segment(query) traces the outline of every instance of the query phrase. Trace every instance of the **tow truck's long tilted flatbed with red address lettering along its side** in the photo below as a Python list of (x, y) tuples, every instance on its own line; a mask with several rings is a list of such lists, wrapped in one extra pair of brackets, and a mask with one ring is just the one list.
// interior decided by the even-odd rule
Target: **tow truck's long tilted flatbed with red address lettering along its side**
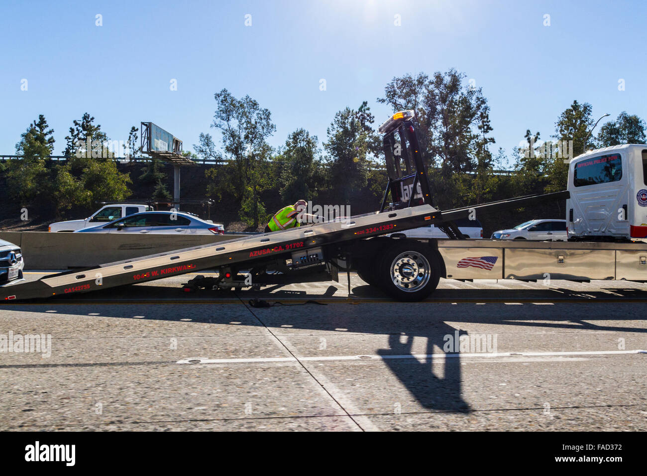
[[(441, 212), (431, 205), (406, 209), (373, 212), (345, 219), (336, 219), (311, 226), (297, 227), (254, 236), (242, 236), (212, 245), (179, 249), (168, 253), (142, 256), (67, 271), (33, 282), (17, 282), (0, 288), (0, 300), (40, 299), (55, 295), (113, 288), (124, 284), (137, 284), (170, 276), (195, 273), (203, 269), (254, 262), (259, 258), (289, 255), (294, 251), (349, 242), (395, 233), (412, 228), (443, 223), (467, 217), (477, 212), (514, 209), (566, 198), (567, 192), (533, 195), (493, 203), (463, 207)], [(91, 240), (91, 234), (88, 234)]]

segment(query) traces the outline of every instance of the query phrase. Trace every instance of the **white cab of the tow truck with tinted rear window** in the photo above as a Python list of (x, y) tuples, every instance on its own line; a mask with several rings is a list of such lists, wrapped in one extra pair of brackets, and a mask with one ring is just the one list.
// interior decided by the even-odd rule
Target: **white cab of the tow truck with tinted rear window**
[(571, 159), (569, 238), (647, 238), (647, 145), (606, 147)]

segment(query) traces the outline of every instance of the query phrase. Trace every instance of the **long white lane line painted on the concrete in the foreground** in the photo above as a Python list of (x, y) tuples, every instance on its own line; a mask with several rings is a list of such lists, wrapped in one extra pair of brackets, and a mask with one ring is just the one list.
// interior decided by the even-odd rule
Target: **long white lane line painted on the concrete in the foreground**
[(271, 363), (271, 362), (320, 362), (340, 360), (380, 360), (380, 359), (444, 359), (452, 357), (543, 357), (543, 356), (612, 356), (620, 354), (647, 354), (647, 350), (578, 350), (573, 352), (503, 352), (498, 354), (482, 353), (458, 353), (458, 354), (406, 354), (402, 356), (322, 356), (322, 357), (258, 357), (252, 359), (182, 359), (176, 363)]

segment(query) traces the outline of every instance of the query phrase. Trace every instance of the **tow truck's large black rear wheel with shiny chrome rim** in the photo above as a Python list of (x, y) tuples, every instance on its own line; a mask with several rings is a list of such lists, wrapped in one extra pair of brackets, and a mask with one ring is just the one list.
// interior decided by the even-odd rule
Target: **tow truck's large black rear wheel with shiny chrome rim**
[(435, 251), (413, 240), (395, 243), (380, 250), (376, 266), (380, 288), (400, 301), (417, 301), (433, 293), (441, 277), (441, 264)]

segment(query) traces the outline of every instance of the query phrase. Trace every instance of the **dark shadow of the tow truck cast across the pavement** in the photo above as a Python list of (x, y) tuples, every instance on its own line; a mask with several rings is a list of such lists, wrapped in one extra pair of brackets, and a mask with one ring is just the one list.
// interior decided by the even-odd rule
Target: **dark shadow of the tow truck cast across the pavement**
[[(175, 291), (175, 289), (173, 289)], [(610, 304), (617, 308), (623, 302), (631, 300), (647, 300), (646, 293), (642, 289), (609, 289), (611, 294), (601, 291), (571, 291), (569, 289), (470, 289), (470, 301), (476, 304), (478, 300), (486, 302), (514, 302), (522, 300), (523, 302), (532, 302), (537, 300), (554, 300), (555, 306), (546, 309), (542, 316), (542, 327), (576, 329), (576, 330), (611, 330), (614, 332), (647, 332), (646, 328), (620, 327), (620, 326), (600, 326), (589, 321), (608, 320), (608, 315), (588, 312), (586, 316), (577, 319), (571, 313), (564, 313), (563, 310), (556, 308), (560, 300), (567, 302), (575, 300), (584, 306), (589, 306), (595, 302), (614, 300), (618, 304)], [(450, 324), (444, 322), (444, 319), (450, 318), (452, 321), (461, 323), (505, 323), (514, 326), (537, 326), (533, 322), (535, 318), (516, 316), (514, 320), (506, 319), (505, 313), (495, 313), (490, 315), (482, 312), (469, 312), (464, 308), (448, 308), (446, 302), (465, 302), (466, 289), (438, 289), (428, 300), (424, 302), (388, 302), (386, 297), (370, 288), (369, 286), (356, 286), (353, 289), (353, 295), (349, 298), (345, 294), (336, 297), (339, 289), (335, 286), (329, 286), (323, 293), (308, 293), (307, 291), (281, 289), (280, 286), (265, 289), (265, 291), (242, 291), (234, 293), (231, 291), (203, 291), (198, 293), (203, 300), (191, 304), (192, 296), (186, 296), (178, 290), (177, 298), (188, 299), (188, 302), (163, 302), (155, 304), (151, 308), (150, 317), (146, 319), (158, 321), (180, 321), (185, 316), (182, 313), (182, 306), (207, 306), (203, 313), (204, 318), (195, 318), (192, 315), (193, 322), (208, 322), (217, 324), (228, 324), (231, 320), (231, 314), (226, 308), (235, 302), (244, 305), (255, 319), (250, 319), (247, 325), (266, 326), (269, 328), (278, 328), (287, 324), (291, 329), (313, 330), (320, 332), (338, 332), (339, 328), (344, 328), (347, 333), (358, 334), (380, 334), (388, 335), (388, 348), (378, 349), (376, 353), (382, 357), (386, 356), (413, 356), (413, 339), (422, 337), (426, 339), (426, 354), (432, 356), (434, 346), (443, 348), (444, 336), (455, 335), (455, 332), (466, 335), (462, 331)], [(8, 304), (0, 306), (0, 310), (12, 310), (22, 312), (44, 313), (49, 306), (60, 306), (60, 312), (66, 314), (78, 314), (88, 318), (87, 309), (80, 310), (79, 305), (87, 301), (87, 306), (96, 304), (102, 299), (109, 300), (118, 297), (119, 299), (141, 299), (147, 300), (170, 299), (170, 289), (161, 286), (127, 286), (124, 288), (106, 289), (86, 295), (78, 295), (73, 303), (65, 299), (43, 300), (41, 303), (28, 304)], [(258, 297), (267, 299), (270, 302), (287, 300), (317, 300), (328, 299), (328, 306), (277, 306), (274, 308), (250, 308), (247, 304), (249, 299)], [(353, 299), (371, 298), (377, 299), (374, 302), (353, 302)], [(172, 299), (172, 297), (171, 297)], [(223, 300), (223, 304), (213, 302), (214, 300)], [(226, 302), (229, 305), (226, 305)], [(340, 307), (338, 304), (345, 304), (348, 307)], [(173, 306), (164, 312), (164, 305)], [(469, 306), (470, 304), (463, 304)], [(629, 305), (629, 304), (628, 304)], [(124, 319), (133, 319), (133, 306), (150, 306), (150, 302), (131, 302), (130, 306), (110, 306), (101, 313), (102, 317), (117, 317)], [(219, 308), (216, 306), (220, 306)], [(367, 306), (372, 306), (366, 310)], [(85, 308), (85, 306), (83, 306)], [(480, 306), (479, 306), (480, 308)], [(192, 307), (193, 310), (195, 308)], [(499, 308), (498, 308), (499, 309)], [(103, 308), (102, 308), (103, 310)], [(586, 319), (586, 320), (585, 320)], [(615, 312), (614, 321), (631, 320), (635, 321), (635, 315), (630, 313)], [(548, 322), (549, 321), (549, 322)], [(444, 357), (444, 356), (443, 356)], [(437, 377), (432, 369), (433, 357), (426, 359), (416, 358), (384, 358), (382, 360), (394, 376), (396, 376), (402, 385), (408, 389), (411, 395), (426, 409), (437, 411), (465, 412), (469, 411), (468, 404), (463, 400), (461, 391), (461, 358), (442, 358), (439, 364), (444, 365), (443, 378)]]

